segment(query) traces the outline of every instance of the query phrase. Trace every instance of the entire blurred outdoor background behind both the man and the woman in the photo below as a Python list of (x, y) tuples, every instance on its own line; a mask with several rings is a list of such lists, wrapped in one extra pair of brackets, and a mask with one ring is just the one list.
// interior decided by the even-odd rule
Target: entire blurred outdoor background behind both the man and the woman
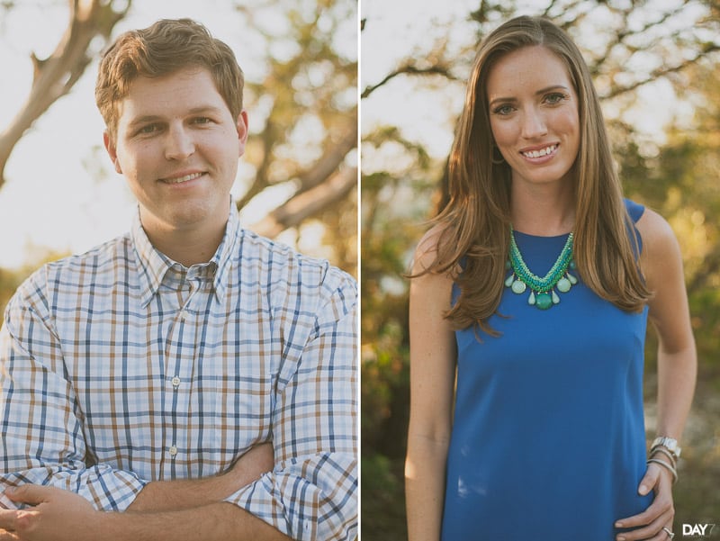
[[(94, 106), (100, 51), (161, 17), (204, 23), (246, 72), (250, 140), (233, 188), (243, 223), (361, 276), (363, 538), (406, 538), (402, 273), (435, 212), (477, 42), (511, 16), (545, 14), (592, 69), (626, 194), (661, 212), (680, 239), (699, 377), (676, 530), (720, 523), (720, 3), (362, 0), (359, 9), (361, 30), (357, 0), (1, 1), (0, 314), (42, 262), (128, 228), (135, 205), (104, 154)], [(654, 349), (651, 332), (649, 437)]]

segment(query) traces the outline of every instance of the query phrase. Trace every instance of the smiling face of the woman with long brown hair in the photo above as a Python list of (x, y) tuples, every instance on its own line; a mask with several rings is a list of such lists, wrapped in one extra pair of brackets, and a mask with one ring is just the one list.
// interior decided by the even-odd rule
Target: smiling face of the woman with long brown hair
[(492, 136), (513, 183), (572, 182), (580, 116), (563, 60), (543, 46), (510, 52), (490, 69), (487, 93)]

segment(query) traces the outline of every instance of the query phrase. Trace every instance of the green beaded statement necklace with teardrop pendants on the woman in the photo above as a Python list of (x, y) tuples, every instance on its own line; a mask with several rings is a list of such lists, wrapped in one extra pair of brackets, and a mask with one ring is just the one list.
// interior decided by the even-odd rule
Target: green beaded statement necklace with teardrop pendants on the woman
[(529, 287), (528, 304), (536, 306), (540, 310), (551, 308), (560, 302), (560, 297), (555, 293), (555, 287), (560, 293), (567, 293), (573, 285), (578, 283), (578, 279), (568, 271), (568, 269), (575, 270), (575, 262), (572, 260), (572, 233), (565, 241), (563, 251), (555, 260), (553, 268), (541, 278), (527, 268), (518, 244), (515, 242), (515, 231), (510, 226), (510, 257), (505, 267), (508, 270), (512, 269), (512, 273), (505, 280), (506, 287), (518, 294), (525, 293)]

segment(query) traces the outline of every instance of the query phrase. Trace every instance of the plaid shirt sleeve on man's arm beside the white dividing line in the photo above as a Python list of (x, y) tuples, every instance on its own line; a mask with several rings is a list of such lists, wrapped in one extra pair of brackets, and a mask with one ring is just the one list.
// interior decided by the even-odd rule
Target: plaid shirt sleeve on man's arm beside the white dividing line
[(278, 383), (275, 469), (227, 501), (293, 539), (350, 540), (357, 535), (357, 293), (341, 273), (320, 287), (302, 352)]

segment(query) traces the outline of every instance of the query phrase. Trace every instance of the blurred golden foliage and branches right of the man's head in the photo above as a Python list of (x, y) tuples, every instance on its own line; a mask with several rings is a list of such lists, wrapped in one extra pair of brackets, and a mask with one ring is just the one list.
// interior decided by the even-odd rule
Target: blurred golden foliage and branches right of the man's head
[[(255, 175), (238, 198), (238, 209), (267, 188), (288, 186), (290, 196), (252, 229), (273, 238), (309, 220), (320, 221), (338, 260), (350, 262), (346, 270), (354, 273), (356, 248), (347, 248), (347, 230), (338, 224), (356, 224), (357, 62), (337, 40), (349, 35), (344, 25), (355, 20), (356, 5), (317, 0), (301, 9), (292, 0), (280, 4), (286, 6), (285, 29), (267, 25), (261, 16), (263, 9), (276, 10), (276, 2), (237, 5), (247, 27), (266, 41), (267, 74), (247, 83), (248, 95), (251, 102), (269, 104), (260, 130), (248, 141), (246, 161)], [(278, 58), (277, 50), (293, 53)]]

